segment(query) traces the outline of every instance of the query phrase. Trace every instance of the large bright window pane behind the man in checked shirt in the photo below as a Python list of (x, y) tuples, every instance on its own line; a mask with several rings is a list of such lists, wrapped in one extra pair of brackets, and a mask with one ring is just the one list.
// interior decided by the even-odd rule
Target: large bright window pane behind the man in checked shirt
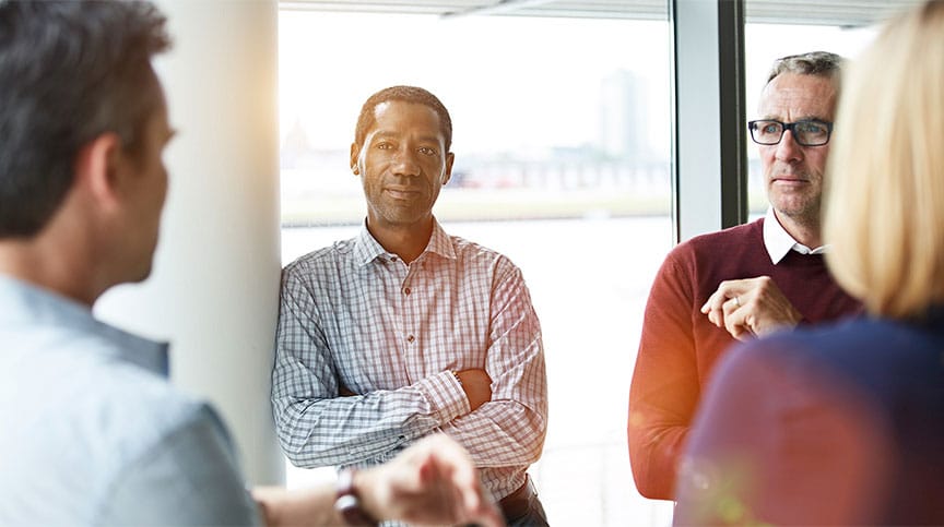
[[(521, 267), (550, 385), (530, 472), (556, 525), (668, 525), (626, 447), (642, 309), (671, 248), (668, 22), (280, 13), (283, 262), (356, 235), (361, 104), (426, 87), (452, 116), (450, 233)], [(290, 486), (317, 472), (288, 468)]]

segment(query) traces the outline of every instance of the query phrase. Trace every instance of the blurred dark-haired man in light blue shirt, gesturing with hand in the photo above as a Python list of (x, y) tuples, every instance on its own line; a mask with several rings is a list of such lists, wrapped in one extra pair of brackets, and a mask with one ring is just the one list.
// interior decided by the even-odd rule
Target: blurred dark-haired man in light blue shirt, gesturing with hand
[(216, 412), (167, 383), (166, 345), (94, 319), (151, 273), (164, 25), (146, 2), (0, 1), (0, 525), (498, 525), (442, 435), (344, 480), (341, 507), (333, 486), (253, 502)]

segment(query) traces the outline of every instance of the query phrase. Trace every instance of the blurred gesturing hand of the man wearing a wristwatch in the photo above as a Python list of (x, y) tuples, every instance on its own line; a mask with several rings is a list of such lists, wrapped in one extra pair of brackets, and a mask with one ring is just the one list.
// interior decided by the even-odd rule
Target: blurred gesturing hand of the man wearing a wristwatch
[(424, 438), (385, 465), (354, 475), (365, 512), (410, 524), (505, 525), (472, 458), (445, 434)]

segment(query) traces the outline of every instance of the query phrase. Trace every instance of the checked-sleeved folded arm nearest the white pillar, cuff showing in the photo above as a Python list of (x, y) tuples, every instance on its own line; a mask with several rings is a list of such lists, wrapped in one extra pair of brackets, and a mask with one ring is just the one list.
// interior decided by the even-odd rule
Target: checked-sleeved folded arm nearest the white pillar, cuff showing
[(342, 396), (317, 307), (305, 288), (283, 280), (272, 408), (282, 447), (302, 467), (386, 458), (469, 411), (448, 371), (398, 390)]

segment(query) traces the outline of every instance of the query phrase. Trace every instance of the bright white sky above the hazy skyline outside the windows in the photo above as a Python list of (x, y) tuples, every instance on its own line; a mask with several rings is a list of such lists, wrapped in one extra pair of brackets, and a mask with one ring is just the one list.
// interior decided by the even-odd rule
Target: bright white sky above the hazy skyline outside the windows
[[(426, 87), (446, 104), (460, 154), (546, 152), (600, 141), (602, 80), (635, 72), (646, 95), (645, 141), (668, 157), (668, 22), (377, 15), (282, 11), (280, 119), (311, 146), (347, 149), (361, 104), (394, 84)], [(748, 119), (771, 61), (825, 49), (854, 57), (872, 29), (748, 25)]]

